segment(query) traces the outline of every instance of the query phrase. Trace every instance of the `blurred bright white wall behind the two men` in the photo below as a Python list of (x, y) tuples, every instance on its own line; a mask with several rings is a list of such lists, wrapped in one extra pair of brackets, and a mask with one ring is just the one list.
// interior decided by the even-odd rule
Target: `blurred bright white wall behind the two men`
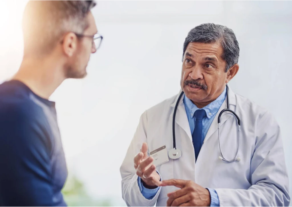
[[(26, 2), (0, 3), (0, 82), (21, 62)], [(65, 81), (51, 97), (69, 171), (92, 196), (125, 206), (119, 167), (139, 117), (178, 93), (184, 39), (204, 22), (235, 32), (240, 69), (230, 86), (276, 116), (292, 190), (291, 1), (99, 0), (93, 14), (104, 41), (91, 56), (88, 76)]]

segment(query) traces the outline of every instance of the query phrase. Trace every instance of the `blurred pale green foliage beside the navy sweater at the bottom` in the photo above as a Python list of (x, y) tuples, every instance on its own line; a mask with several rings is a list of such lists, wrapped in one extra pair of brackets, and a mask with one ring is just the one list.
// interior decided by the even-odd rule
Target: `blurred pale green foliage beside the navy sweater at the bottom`
[(76, 176), (68, 176), (62, 189), (64, 200), (68, 207), (113, 207), (108, 199), (95, 200), (84, 189), (83, 183)]

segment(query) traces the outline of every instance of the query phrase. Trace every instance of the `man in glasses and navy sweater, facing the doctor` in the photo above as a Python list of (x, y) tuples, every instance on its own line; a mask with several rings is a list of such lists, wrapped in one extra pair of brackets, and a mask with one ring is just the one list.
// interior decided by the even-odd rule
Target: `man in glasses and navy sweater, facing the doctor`
[(0, 85), (0, 206), (67, 206), (67, 167), (55, 102), (67, 78), (83, 78), (100, 45), (93, 0), (30, 0), (19, 71)]

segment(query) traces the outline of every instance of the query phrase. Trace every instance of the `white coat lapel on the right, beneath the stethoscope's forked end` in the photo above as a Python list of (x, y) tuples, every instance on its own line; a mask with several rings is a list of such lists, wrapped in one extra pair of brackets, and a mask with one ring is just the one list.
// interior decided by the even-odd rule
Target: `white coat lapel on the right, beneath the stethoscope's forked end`
[[(228, 85), (227, 85), (228, 86)], [(235, 97), (235, 93), (233, 93), (233, 91), (231, 90), (231, 88), (228, 86), (228, 93), (229, 93), (229, 105), (230, 105), (230, 109), (235, 111), (235, 106), (236, 106), (236, 97)], [(206, 134), (206, 137), (204, 139), (204, 142), (205, 143), (212, 135), (213, 133), (217, 132), (218, 130), (218, 116), (220, 114), (220, 112), (223, 110), (223, 109), (226, 109), (227, 108), (227, 100), (225, 98), (223, 104), (221, 105), (220, 109), (218, 110), (217, 114), (215, 115), (215, 118), (214, 120), (212, 121), (211, 123), (211, 126)], [(227, 121), (230, 117), (233, 117), (233, 116), (221, 116), (221, 123), (220, 123), (220, 126), (222, 127), (223, 124), (225, 123), (225, 121)]]

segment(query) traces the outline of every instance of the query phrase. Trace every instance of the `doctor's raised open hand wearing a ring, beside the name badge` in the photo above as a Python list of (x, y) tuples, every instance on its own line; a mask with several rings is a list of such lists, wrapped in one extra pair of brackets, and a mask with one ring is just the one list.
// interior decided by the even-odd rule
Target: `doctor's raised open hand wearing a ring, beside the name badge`
[(161, 185), (160, 175), (153, 164), (153, 158), (147, 155), (148, 145), (143, 143), (141, 151), (134, 157), (136, 174), (141, 178), (144, 187), (148, 189), (157, 188)]

